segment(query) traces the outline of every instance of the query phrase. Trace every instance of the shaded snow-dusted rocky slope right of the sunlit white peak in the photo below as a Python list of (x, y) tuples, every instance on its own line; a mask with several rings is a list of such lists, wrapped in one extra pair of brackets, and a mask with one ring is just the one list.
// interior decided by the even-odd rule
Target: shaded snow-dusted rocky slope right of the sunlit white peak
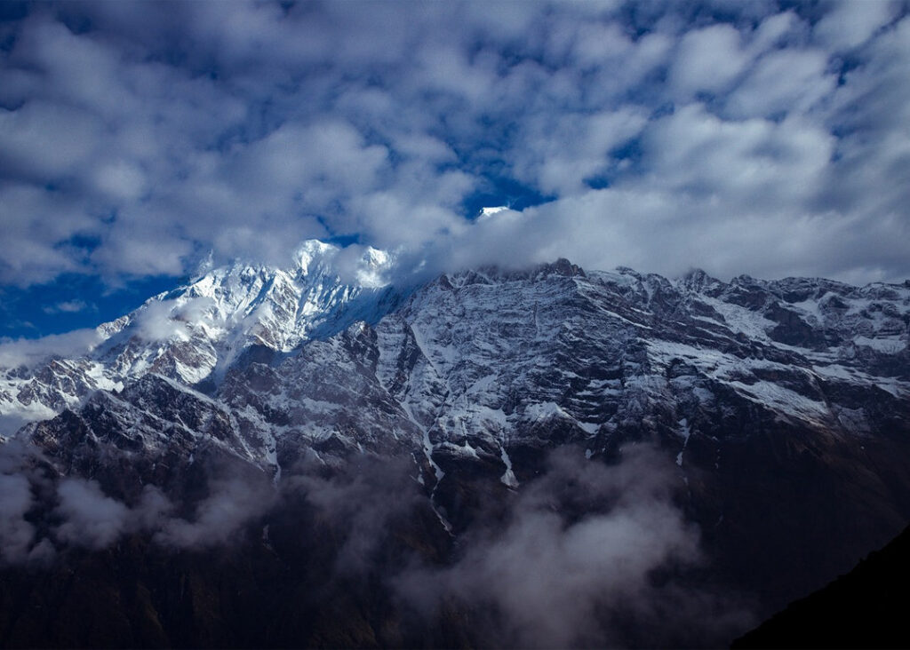
[(657, 440), (716, 566), (783, 605), (910, 517), (908, 297), (902, 286), (589, 276), (565, 262), (446, 275), (375, 329), (251, 365), (221, 396), (276, 435), (278, 463), (307, 439), (422, 446), (456, 530), (489, 489), (466, 476), (516, 487), (554, 446), (609, 458)]

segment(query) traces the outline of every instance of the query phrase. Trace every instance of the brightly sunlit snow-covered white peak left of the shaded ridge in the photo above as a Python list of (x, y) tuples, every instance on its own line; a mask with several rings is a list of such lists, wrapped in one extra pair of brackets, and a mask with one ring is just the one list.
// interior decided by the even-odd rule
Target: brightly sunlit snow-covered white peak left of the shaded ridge
[[(389, 286), (394, 263), (394, 255), (376, 248), (315, 239), (299, 245), (284, 268), (244, 261), (213, 267), (209, 258), (187, 285), (99, 325), (91, 345), (69, 353), (78, 380), (47, 388), (46, 406), (33, 400), (29, 411), (15, 397), (33, 382), (31, 375), (0, 381), (0, 418), (47, 417), (76, 406), (96, 387), (116, 388), (147, 373), (187, 385), (217, 384), (245, 355), (267, 359), (356, 321), (375, 323), (404, 295)], [(43, 363), (35, 360), (35, 372)], [(0, 380), (5, 370), (0, 367)]]

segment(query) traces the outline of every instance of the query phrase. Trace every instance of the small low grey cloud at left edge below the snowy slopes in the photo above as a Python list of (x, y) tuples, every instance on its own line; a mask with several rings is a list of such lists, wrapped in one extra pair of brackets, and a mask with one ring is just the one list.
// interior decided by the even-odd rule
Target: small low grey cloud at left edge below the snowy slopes
[(268, 477), (211, 470), (206, 493), (187, 503), (145, 485), (136, 499), (106, 494), (95, 479), (53, 480), (35, 469), (28, 445), (0, 445), (0, 563), (45, 563), (67, 547), (102, 550), (126, 535), (144, 535), (169, 549), (205, 549), (236, 541), (248, 523), (266, 515), (277, 492)]

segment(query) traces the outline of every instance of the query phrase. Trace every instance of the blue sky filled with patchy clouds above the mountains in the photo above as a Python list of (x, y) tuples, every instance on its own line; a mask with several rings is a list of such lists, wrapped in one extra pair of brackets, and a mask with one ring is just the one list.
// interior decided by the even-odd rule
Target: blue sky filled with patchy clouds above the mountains
[(907, 3), (0, 4), (0, 338), (311, 237), (902, 281)]

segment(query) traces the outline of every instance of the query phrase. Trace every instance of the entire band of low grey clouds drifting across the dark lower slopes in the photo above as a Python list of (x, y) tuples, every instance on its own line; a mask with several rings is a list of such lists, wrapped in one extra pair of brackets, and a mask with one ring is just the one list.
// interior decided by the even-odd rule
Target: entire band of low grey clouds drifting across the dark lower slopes
[(214, 470), (194, 503), (147, 485), (127, 505), (95, 480), (35, 478), (22, 449), (4, 445), (3, 453), (6, 565), (46, 564), (67, 547), (101, 550), (127, 535), (175, 552), (236, 545), (255, 539), (244, 533), (252, 523), (290, 516), (308, 524), (283, 539), (285, 553), (288, 544), (315, 545), (320, 557), (333, 558), (330, 580), (387, 590), (384, 597), (422, 625), (461, 612), (465, 634), (477, 642), (703, 645), (752, 623), (736, 598), (693, 579), (691, 570), (706, 562), (699, 531), (674, 501), (680, 485), (672, 458), (648, 445), (626, 447), (613, 465), (579, 449), (556, 450), (539, 477), (480, 507), (458, 538), (432, 514), (410, 457), (325, 465), (308, 454), (278, 486), (258, 472)]

